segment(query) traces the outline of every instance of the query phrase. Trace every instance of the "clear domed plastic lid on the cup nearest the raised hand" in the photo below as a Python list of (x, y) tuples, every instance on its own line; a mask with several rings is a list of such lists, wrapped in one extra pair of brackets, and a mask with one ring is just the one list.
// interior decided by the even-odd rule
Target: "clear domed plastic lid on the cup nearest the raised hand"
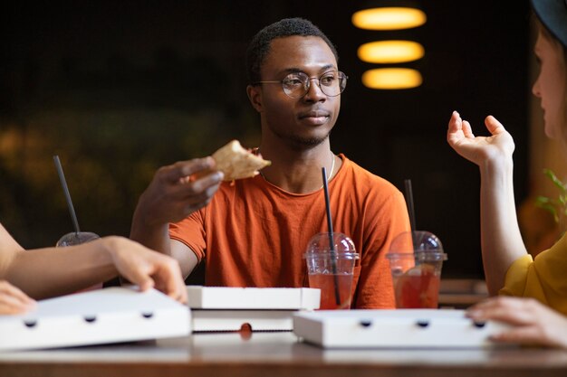
[(447, 260), (443, 244), (429, 231), (404, 231), (392, 240), (389, 254), (414, 253), (416, 259)]

